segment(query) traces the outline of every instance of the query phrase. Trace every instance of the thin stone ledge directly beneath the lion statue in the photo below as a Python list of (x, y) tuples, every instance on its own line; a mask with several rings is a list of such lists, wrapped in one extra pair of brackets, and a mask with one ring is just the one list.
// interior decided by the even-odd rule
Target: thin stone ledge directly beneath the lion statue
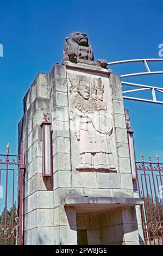
[(68, 60), (65, 60), (64, 62), (62, 62), (62, 65), (65, 65), (68, 68), (72, 68), (72, 69), (80, 69), (80, 70), (86, 70), (86, 71), (92, 71), (92, 72), (99, 72), (99, 73), (108, 74), (108, 75), (112, 74), (111, 69), (103, 69), (99, 66), (87, 65), (84, 63), (72, 63), (72, 62), (68, 62)]

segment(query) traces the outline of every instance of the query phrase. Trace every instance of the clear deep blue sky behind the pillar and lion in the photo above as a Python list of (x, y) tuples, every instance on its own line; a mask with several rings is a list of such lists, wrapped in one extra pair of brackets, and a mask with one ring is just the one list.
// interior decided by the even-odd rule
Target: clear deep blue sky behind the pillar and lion
[[(17, 124), (23, 114), (23, 97), (38, 72), (60, 63), (66, 35), (86, 32), (95, 58), (108, 62), (159, 58), (163, 43), (163, 1), (159, 0), (1, 0), (0, 44), (0, 152), (10, 143), (17, 152)], [(163, 70), (162, 64), (150, 64)], [(145, 70), (141, 64), (111, 67), (117, 74)], [(163, 75), (126, 78), (123, 81), (163, 87)], [(162, 95), (163, 99), (163, 95)], [(163, 162), (162, 105), (125, 101), (135, 131), (137, 160), (141, 152), (159, 153)]]

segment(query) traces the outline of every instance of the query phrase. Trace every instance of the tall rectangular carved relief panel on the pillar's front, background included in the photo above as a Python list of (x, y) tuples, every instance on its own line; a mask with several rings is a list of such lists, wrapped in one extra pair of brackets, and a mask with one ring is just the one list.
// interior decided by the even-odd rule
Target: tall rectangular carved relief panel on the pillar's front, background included
[(116, 172), (111, 106), (105, 99), (109, 88), (103, 82), (108, 78), (67, 71), (67, 80), (72, 168)]

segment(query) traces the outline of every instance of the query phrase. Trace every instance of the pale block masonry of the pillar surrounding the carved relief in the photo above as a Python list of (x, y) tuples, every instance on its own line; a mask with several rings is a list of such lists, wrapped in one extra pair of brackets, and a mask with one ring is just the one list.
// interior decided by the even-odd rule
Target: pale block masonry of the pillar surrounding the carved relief
[[(18, 139), (19, 144), (23, 143), (27, 164), (24, 180), (24, 243), (28, 245), (77, 245), (79, 216), (76, 215), (75, 208), (65, 208), (66, 197), (135, 197), (120, 76), (110, 74), (107, 78), (111, 95), (117, 173), (78, 172), (72, 168), (72, 154), (76, 153), (72, 147), (67, 69), (66, 65), (56, 64), (49, 74), (39, 73), (24, 97), (24, 115), (18, 128)], [(96, 70), (84, 72), (106, 76), (96, 74)], [(42, 177), (40, 125), (43, 113), (48, 113), (52, 122), (53, 143), (53, 177), (46, 179)], [(120, 212), (122, 217), (123, 212), (125, 210)], [(96, 226), (88, 229), (89, 243), (111, 243), (109, 238), (107, 241), (103, 238), (104, 227), (100, 228), (99, 238), (98, 217), (96, 214), (89, 215), (90, 222)], [(93, 218), (97, 220), (96, 224), (93, 224)], [(108, 232), (109, 228), (111, 230), (110, 224)], [(136, 227), (134, 230), (136, 231)], [(131, 237), (124, 239), (124, 242), (136, 243), (139, 240), (137, 236), (133, 238), (135, 233), (131, 233)]]

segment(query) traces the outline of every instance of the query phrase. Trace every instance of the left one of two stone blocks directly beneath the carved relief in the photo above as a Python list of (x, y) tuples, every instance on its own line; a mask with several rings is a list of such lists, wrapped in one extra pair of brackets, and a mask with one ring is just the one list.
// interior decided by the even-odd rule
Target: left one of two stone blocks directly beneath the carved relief
[(73, 187), (97, 187), (96, 173), (72, 172)]

